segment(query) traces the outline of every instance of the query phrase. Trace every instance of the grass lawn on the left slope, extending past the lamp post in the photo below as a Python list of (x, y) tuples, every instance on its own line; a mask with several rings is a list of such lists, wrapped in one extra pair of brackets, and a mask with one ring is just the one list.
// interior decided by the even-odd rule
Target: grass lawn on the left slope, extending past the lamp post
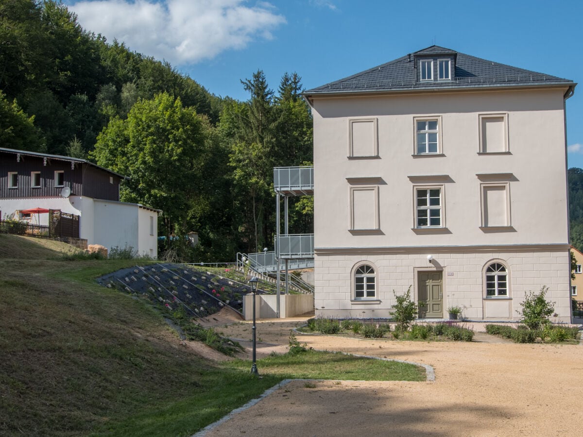
[(336, 354), (266, 358), (262, 379), (203, 360), (152, 306), (94, 282), (135, 261), (64, 261), (52, 243), (0, 234), (0, 435), (191, 435), (285, 378), (365, 379), (353, 368), (371, 363), (420, 378)]

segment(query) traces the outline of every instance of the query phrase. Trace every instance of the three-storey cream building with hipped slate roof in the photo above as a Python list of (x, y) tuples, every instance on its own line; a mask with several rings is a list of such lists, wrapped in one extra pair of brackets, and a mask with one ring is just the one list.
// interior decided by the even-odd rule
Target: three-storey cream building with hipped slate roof
[(420, 318), (517, 320), (547, 286), (570, 322), (574, 87), (432, 46), (305, 91), (317, 316), (384, 318), (411, 287)]

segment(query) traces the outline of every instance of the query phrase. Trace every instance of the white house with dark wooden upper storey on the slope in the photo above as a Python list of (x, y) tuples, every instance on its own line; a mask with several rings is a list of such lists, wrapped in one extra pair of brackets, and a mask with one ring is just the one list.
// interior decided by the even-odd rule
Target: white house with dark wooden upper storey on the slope
[(23, 211), (58, 210), (74, 216), (73, 237), (156, 259), (160, 211), (120, 202), (123, 179), (83, 159), (0, 147), (0, 220), (47, 225), (49, 214)]

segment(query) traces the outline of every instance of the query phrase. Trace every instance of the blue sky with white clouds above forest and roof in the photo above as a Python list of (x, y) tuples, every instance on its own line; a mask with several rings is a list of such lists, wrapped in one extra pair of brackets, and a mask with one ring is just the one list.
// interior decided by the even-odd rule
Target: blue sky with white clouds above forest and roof
[[(217, 96), (246, 100), (261, 69), (273, 90), (297, 72), (306, 89), (437, 44), (583, 80), (581, 1), (439, 3), (350, 0), (66, 1), (87, 30), (166, 59)], [(583, 84), (567, 100), (569, 167), (583, 168)]]

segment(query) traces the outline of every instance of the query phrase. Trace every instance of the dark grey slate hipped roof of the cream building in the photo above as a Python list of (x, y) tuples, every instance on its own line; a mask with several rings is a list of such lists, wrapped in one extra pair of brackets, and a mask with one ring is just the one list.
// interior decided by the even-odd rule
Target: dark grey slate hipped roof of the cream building
[[(420, 82), (417, 80), (414, 58), (416, 56), (425, 58), (429, 55), (455, 57), (455, 71), (451, 81)], [(573, 80), (570, 79), (498, 64), (498, 62), (487, 61), (486, 59), (476, 58), (449, 48), (432, 45), (413, 54), (387, 62), (387, 64), (304, 91), (304, 95), (550, 84), (575, 85)]]

